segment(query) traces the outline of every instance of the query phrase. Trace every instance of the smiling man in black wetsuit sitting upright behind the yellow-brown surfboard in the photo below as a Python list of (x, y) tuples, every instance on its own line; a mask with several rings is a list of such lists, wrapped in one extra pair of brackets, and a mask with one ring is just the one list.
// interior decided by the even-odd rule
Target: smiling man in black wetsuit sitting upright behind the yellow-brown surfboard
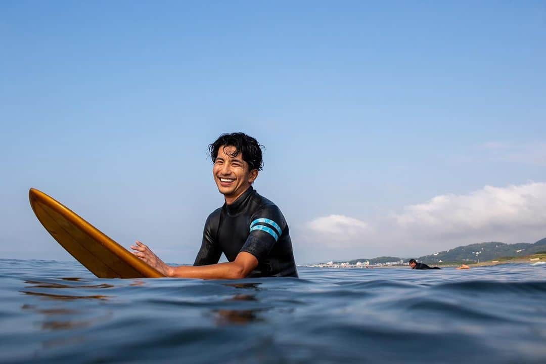
[[(207, 218), (193, 266), (169, 266), (140, 241), (131, 247), (133, 254), (167, 277), (298, 277), (281, 210), (252, 187), (263, 166), (261, 147), (244, 133), (222, 134), (209, 145), (212, 175), (225, 203)], [(228, 262), (218, 263), (222, 253)]]

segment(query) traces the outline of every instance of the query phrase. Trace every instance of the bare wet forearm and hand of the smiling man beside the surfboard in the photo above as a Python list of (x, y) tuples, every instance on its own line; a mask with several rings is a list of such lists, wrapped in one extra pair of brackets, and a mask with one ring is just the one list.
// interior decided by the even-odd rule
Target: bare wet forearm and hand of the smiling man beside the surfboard
[(156, 268), (167, 277), (201, 278), (201, 279), (241, 279), (248, 276), (258, 266), (256, 256), (240, 252), (234, 261), (200, 266), (173, 267), (165, 264), (159, 257), (140, 241), (131, 249), (134, 255)]

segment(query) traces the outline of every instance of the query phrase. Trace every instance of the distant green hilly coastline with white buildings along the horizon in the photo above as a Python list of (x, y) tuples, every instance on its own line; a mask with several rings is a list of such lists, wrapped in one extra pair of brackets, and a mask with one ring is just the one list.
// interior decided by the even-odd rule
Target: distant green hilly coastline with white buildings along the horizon
[[(416, 258), (420, 262), (426, 264), (438, 263), (461, 263), (461, 262), (478, 262), (486, 260), (494, 260), (503, 256), (525, 256), (546, 251), (546, 238), (537, 241), (536, 243), (517, 243), (506, 244), (501, 242), (486, 242), (470, 244), (454, 249), (444, 250), (430, 255), (419, 256)], [(403, 260), (407, 262), (408, 258), (398, 258), (396, 256), (379, 256), (372, 259), (354, 259), (349, 260), (350, 264), (357, 262), (369, 261), (371, 265), (384, 264), (387, 262), (396, 262)]]

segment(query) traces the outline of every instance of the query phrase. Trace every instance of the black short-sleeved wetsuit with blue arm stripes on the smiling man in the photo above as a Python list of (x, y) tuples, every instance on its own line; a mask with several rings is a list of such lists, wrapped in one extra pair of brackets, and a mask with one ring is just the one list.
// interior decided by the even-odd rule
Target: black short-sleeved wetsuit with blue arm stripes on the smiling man
[(252, 186), (233, 204), (224, 204), (206, 219), (203, 243), (193, 265), (216, 264), (222, 253), (234, 261), (239, 252), (258, 259), (248, 277), (298, 277), (281, 210)]

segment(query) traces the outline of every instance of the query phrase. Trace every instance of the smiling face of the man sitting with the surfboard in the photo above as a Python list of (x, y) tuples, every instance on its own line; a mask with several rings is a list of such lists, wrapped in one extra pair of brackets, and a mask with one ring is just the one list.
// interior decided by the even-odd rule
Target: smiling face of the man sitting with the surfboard
[(222, 145), (212, 167), (212, 174), (218, 191), (224, 195), (225, 202), (234, 202), (258, 177), (258, 170), (250, 170), (242, 159), (242, 153), (232, 157), (234, 146)]

